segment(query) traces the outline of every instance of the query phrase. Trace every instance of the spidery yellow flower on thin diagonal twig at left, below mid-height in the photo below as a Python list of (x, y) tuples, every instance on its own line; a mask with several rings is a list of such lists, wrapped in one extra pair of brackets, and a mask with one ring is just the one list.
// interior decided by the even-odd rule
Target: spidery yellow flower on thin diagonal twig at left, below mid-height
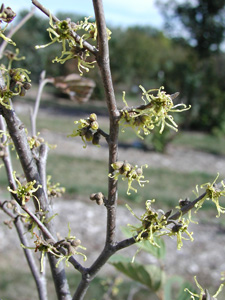
[[(18, 199), (21, 202), (21, 205), (25, 205), (26, 202), (28, 202), (32, 197), (34, 197), (38, 204), (39, 200), (38, 198), (34, 195), (34, 193), (41, 188), (41, 185), (36, 184), (36, 180), (29, 181), (27, 183), (22, 184), (19, 179), (16, 176), (16, 172), (13, 173), (14, 179), (17, 183), (17, 189), (12, 190), (10, 187), (8, 187), (8, 191), (11, 192), (12, 194), (15, 194)], [(40, 207), (39, 207), (40, 210)]]

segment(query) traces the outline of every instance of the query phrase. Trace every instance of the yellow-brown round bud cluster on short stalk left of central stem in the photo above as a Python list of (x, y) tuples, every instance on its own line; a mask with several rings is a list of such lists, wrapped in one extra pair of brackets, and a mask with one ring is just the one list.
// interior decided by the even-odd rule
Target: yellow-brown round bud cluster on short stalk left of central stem
[(80, 136), (84, 142), (84, 148), (87, 147), (86, 142), (92, 142), (93, 145), (99, 145), (100, 133), (98, 132), (98, 122), (96, 114), (92, 113), (87, 119), (80, 119), (74, 122), (75, 125), (78, 124), (78, 128), (74, 129), (73, 133), (68, 135), (71, 137)]

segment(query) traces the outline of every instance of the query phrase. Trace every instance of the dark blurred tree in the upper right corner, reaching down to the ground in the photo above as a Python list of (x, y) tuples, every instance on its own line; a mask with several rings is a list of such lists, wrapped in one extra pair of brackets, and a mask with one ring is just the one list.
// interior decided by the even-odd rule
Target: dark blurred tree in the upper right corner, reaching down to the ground
[[(184, 62), (180, 83), (187, 92), (193, 111), (186, 127), (213, 131), (224, 128), (224, 75), (219, 70), (225, 32), (225, 3), (218, 1), (158, 1), (165, 28), (173, 38), (186, 35), (193, 49)], [(189, 72), (190, 71), (190, 72)], [(184, 74), (185, 73), (185, 74)], [(222, 79), (222, 81), (221, 81)], [(209, 114), (209, 111), (211, 112)]]

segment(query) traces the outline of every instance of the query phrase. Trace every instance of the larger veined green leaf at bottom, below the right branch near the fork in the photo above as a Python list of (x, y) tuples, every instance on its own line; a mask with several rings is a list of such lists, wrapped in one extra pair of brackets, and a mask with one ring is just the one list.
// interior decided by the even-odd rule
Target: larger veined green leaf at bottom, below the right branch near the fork
[(130, 259), (121, 255), (114, 255), (109, 263), (118, 271), (131, 279), (144, 284), (152, 291), (157, 291), (164, 282), (164, 272), (155, 265), (142, 265), (137, 262), (131, 263)]

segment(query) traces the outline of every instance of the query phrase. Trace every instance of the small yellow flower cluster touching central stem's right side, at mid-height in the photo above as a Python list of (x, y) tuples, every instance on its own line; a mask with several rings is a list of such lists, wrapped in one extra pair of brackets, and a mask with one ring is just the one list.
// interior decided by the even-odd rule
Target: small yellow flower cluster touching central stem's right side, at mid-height
[(122, 180), (128, 180), (128, 188), (127, 188), (127, 195), (130, 195), (130, 190), (133, 190), (135, 193), (137, 193), (137, 190), (132, 187), (133, 181), (137, 181), (141, 187), (144, 186), (143, 183), (149, 182), (148, 180), (142, 180), (144, 179), (143, 175), (143, 167), (147, 168), (148, 165), (143, 165), (141, 167), (132, 166), (127, 161), (117, 161), (113, 163), (112, 168), (114, 170), (113, 174), (109, 174), (110, 178), (118, 179), (118, 177), (121, 175)]

